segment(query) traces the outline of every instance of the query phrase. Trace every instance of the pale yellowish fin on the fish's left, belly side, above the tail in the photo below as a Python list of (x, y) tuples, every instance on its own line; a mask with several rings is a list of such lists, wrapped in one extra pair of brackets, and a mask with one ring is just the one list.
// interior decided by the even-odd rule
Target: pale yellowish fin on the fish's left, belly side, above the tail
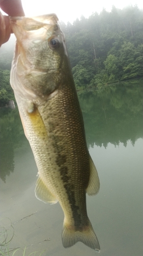
[(43, 201), (44, 203), (55, 204), (58, 200), (55, 196), (51, 193), (48, 187), (44, 184), (42, 179), (39, 177), (36, 182), (35, 187), (35, 196), (37, 199)]

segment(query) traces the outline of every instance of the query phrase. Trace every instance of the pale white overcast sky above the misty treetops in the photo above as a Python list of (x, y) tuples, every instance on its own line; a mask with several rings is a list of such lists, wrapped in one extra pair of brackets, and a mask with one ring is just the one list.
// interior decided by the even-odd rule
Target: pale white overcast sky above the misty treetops
[(129, 5), (137, 5), (139, 9), (143, 9), (142, 0), (22, 0), (23, 9), (26, 16), (38, 16), (42, 14), (55, 13), (59, 20), (67, 23), (73, 23), (76, 18), (88, 18), (92, 13), (100, 13), (103, 8), (110, 11), (112, 5), (119, 9), (123, 9)]

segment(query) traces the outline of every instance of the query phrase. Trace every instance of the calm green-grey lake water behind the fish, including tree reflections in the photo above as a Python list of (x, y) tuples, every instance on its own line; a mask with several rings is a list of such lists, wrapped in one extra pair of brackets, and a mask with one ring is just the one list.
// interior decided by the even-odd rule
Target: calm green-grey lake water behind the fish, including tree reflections
[(62, 208), (36, 199), (34, 156), (18, 111), (10, 109), (0, 111), (0, 251), (7, 246), (19, 248), (14, 256), (25, 247), (25, 256), (35, 251), (32, 255), (142, 256), (142, 84), (121, 83), (78, 96), (101, 183), (97, 196), (87, 196), (100, 253), (80, 242), (62, 246)]

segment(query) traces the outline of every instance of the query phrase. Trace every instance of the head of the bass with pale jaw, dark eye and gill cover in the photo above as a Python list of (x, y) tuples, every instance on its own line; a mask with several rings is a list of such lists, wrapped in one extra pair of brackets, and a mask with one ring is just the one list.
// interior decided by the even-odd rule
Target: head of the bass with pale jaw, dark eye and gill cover
[(11, 27), (17, 39), (11, 86), (29, 99), (45, 99), (61, 86), (69, 65), (58, 17), (11, 17)]

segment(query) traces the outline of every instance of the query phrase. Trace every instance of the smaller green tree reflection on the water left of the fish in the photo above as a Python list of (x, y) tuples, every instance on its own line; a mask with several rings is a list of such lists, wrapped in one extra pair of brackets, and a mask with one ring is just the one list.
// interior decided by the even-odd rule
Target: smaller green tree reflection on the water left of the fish
[(21, 146), (24, 138), (18, 110), (1, 109), (0, 119), (0, 178), (14, 171), (14, 150)]

